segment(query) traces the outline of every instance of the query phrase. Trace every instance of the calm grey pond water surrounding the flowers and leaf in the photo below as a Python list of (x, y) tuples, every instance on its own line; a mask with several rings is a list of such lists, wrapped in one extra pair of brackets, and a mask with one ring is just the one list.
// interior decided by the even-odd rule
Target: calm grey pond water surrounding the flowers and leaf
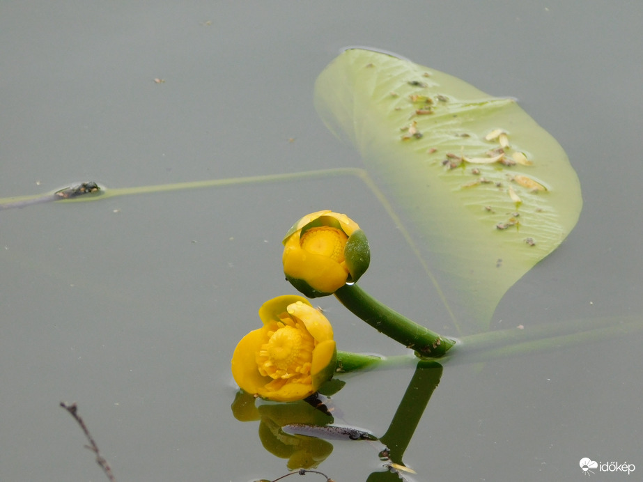
[[(598, 1), (5, 2), (0, 196), (361, 166), (318, 120), (313, 82), (342, 47), (376, 47), (515, 96), (578, 172), (578, 226), (492, 327), (637, 315), (642, 28), (637, 4)], [(286, 474), (258, 423), (234, 419), (229, 361), (258, 307), (293, 291), (281, 237), (322, 208), (369, 234), (360, 284), (448, 335), (412, 251), (354, 179), (1, 212), (0, 479), (106, 480), (60, 401), (79, 404), (119, 481)], [(319, 304), (339, 348), (403, 353)], [(641, 341), (445, 367), (405, 454), (415, 480), (576, 480), (583, 457), (643, 471)], [(334, 403), (382, 435), (412, 373), (355, 376)], [(319, 469), (359, 481), (380, 466), (373, 446), (336, 442)]]

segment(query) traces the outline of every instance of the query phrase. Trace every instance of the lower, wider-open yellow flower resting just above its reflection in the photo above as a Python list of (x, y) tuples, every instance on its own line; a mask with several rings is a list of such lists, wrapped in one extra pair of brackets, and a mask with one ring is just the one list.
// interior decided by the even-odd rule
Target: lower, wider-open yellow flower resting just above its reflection
[(314, 394), (335, 371), (330, 322), (308, 300), (279, 296), (259, 310), (263, 327), (244, 336), (232, 355), (232, 375), (249, 394), (278, 402)]

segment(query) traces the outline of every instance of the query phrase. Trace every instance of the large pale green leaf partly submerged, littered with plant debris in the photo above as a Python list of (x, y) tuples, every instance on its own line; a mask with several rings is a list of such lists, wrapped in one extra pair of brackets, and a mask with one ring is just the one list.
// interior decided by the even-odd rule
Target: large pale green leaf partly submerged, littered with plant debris
[(465, 332), (488, 326), (504, 293), (578, 220), (580, 184), (564, 150), (513, 99), (349, 49), (320, 74), (315, 100), (412, 228)]

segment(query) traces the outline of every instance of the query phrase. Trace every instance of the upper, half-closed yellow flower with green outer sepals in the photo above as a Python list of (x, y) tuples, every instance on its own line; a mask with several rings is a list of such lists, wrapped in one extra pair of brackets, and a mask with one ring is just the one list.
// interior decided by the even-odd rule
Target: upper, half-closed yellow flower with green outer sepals
[(369, 267), (371, 250), (353, 219), (318, 211), (302, 217), (286, 233), (283, 261), (286, 279), (314, 298), (357, 281)]

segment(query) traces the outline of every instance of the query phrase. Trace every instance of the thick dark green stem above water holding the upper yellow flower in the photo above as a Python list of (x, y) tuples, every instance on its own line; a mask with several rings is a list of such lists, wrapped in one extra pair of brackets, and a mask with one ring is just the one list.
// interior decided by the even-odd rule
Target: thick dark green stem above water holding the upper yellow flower
[(406, 348), (412, 348), (419, 357), (442, 357), (456, 343), (378, 302), (357, 284), (342, 286), (336, 290), (335, 297), (357, 317)]

